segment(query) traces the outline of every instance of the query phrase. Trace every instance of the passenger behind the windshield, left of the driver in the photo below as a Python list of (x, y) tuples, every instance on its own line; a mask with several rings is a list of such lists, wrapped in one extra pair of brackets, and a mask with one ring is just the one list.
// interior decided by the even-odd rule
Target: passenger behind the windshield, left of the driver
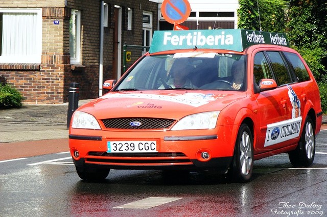
[[(185, 60), (176, 59), (171, 68), (172, 77), (168, 80), (169, 88), (197, 88), (188, 78), (194, 67)], [(159, 89), (165, 89), (165, 85), (161, 85)], [(166, 87), (167, 89), (167, 87)]]

